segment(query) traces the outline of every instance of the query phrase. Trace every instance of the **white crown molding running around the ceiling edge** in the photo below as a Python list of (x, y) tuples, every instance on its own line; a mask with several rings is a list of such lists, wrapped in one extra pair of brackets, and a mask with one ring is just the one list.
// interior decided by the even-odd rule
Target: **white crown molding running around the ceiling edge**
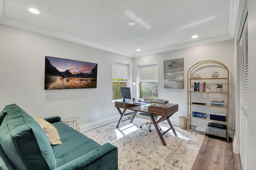
[(228, 35), (224, 35), (224, 36), (220, 36), (220, 37), (216, 37), (216, 38), (209, 38), (209, 39), (205, 39), (205, 40), (199, 40), (199, 41), (190, 42), (190, 43), (183, 43), (183, 44), (179, 44), (179, 45), (165, 47), (162, 49), (146, 51), (144, 53), (138, 53), (138, 54), (126, 53), (124, 51), (113, 49), (113, 48), (110, 48), (110, 47), (107, 47), (104, 45), (100, 45), (98, 43), (94, 43), (94, 42), (90, 42), (87, 40), (83, 40), (81, 38), (70, 36), (68, 34), (63, 34), (60, 32), (56, 32), (54, 30), (49, 30), (46, 28), (42, 28), (39, 26), (35, 26), (32, 24), (28, 24), (28, 23), (20, 22), (18, 20), (4, 17), (4, 12), (3, 12), (4, 11), (4, 9), (3, 9), (4, 8), (4, 0), (0, 0), (0, 24), (12, 26), (14, 28), (19, 28), (22, 30), (30, 31), (30, 32), (35, 32), (38, 34), (42, 34), (42, 35), (46, 35), (46, 36), (50, 36), (50, 37), (54, 37), (54, 38), (59, 38), (62, 40), (67, 40), (70, 42), (80, 43), (83, 45), (87, 45), (87, 46), (94, 47), (97, 49), (102, 49), (104, 51), (109, 51), (109, 52), (124, 55), (127, 57), (141, 57), (141, 56), (145, 56), (145, 55), (152, 55), (152, 54), (156, 54), (156, 53), (162, 53), (162, 52), (166, 52), (166, 51), (172, 51), (172, 50), (182, 49), (182, 48), (186, 48), (186, 47), (192, 47), (192, 46), (196, 46), (196, 45), (203, 45), (206, 43), (215, 43), (215, 42), (221, 42), (221, 41), (234, 39), (239, 2), (240, 2), (240, 0), (231, 0), (230, 1), (230, 18), (229, 18), (229, 31), (228, 31), (229, 34)]

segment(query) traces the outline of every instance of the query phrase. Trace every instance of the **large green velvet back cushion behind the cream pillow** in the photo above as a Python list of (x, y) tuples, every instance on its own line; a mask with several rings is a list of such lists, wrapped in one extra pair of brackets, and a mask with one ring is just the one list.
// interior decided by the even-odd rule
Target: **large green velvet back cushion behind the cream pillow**
[(56, 160), (44, 131), (21, 108), (8, 111), (4, 117), (0, 126), (0, 144), (16, 169), (56, 168)]

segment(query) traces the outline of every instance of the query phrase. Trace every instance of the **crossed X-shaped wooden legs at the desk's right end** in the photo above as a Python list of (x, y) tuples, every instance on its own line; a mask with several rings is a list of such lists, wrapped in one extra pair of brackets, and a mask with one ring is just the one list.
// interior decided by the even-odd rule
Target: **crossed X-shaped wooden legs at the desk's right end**
[[(164, 141), (164, 138), (163, 138), (164, 134), (166, 134), (169, 130), (172, 129), (172, 132), (174, 133), (174, 135), (177, 136), (177, 134), (176, 134), (176, 132), (175, 132), (173, 126), (172, 126), (171, 121), (169, 120), (168, 117), (166, 117), (166, 118), (165, 118), (165, 117), (161, 117), (161, 118), (156, 122), (156, 120), (154, 119), (154, 116), (153, 116), (152, 114), (149, 114), (149, 116), (150, 116), (150, 118), (151, 118), (151, 120), (152, 120), (152, 122), (153, 122), (153, 124), (154, 124), (154, 126), (155, 126), (155, 128), (156, 128), (156, 131), (157, 131), (157, 133), (158, 133), (158, 136), (160, 137), (160, 139), (161, 139), (163, 145), (166, 146), (166, 142)], [(164, 131), (163, 133), (161, 133), (161, 131), (160, 131), (160, 129), (158, 128), (157, 125), (158, 125), (158, 123), (162, 122), (163, 120), (167, 120), (167, 121), (168, 121), (168, 123), (169, 123), (169, 125), (170, 125), (170, 128), (168, 128), (166, 131)]]

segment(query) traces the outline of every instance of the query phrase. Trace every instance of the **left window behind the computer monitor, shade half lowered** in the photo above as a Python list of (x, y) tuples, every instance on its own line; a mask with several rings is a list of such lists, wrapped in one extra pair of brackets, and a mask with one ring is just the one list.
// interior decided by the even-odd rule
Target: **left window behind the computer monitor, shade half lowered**
[(112, 100), (122, 99), (120, 87), (127, 87), (128, 66), (112, 63)]

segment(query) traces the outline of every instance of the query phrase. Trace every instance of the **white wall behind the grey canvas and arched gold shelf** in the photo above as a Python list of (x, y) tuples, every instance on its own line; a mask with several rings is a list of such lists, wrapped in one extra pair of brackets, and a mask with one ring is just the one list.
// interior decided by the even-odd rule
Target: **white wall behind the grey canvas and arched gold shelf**
[[(184, 58), (184, 89), (164, 89), (164, 60)], [(234, 129), (234, 40), (210, 43), (206, 45), (198, 45), (154, 55), (134, 58), (133, 76), (138, 76), (137, 65), (145, 63), (158, 63), (158, 97), (167, 99), (170, 103), (179, 105), (179, 111), (175, 113), (171, 120), (173, 123), (178, 123), (179, 116), (187, 116), (187, 74), (188, 69), (200, 61), (215, 60), (223, 63), (229, 69), (230, 76), (230, 128)]]

